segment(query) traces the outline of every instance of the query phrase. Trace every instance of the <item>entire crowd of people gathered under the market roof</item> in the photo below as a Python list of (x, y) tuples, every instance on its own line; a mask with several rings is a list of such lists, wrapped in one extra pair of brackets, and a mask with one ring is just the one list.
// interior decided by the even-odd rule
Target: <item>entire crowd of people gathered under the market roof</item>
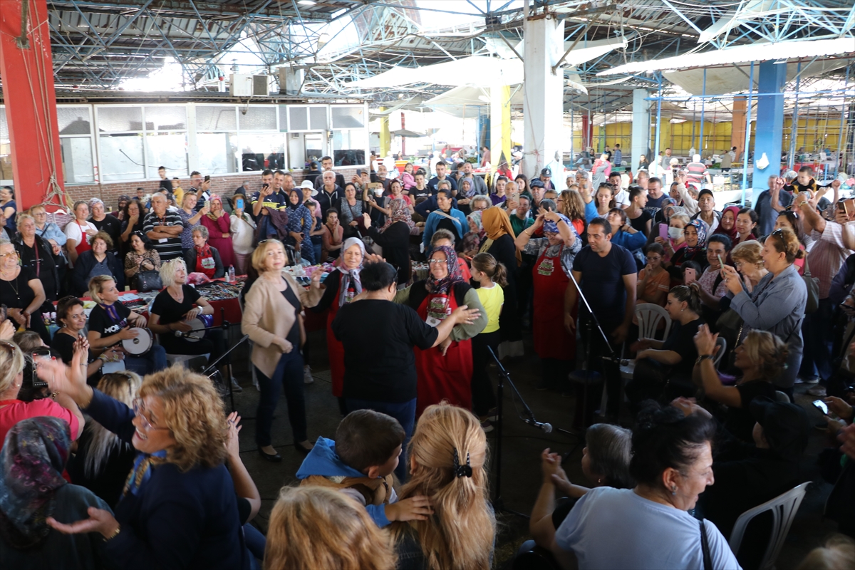
[[(797, 383), (840, 418), (825, 426), (840, 445), (823, 476), (852, 500), (855, 208), (839, 182), (820, 187), (805, 171), (771, 177), (754, 209), (719, 211), (682, 173), (666, 194), (662, 179), (626, 179), (610, 158), (563, 191), (549, 168), (487, 184), (470, 162), (399, 177), (380, 164), (345, 181), (325, 157), (299, 186), (265, 170), (232, 197), (201, 173), (187, 189), (163, 174), (149, 199), (122, 196), (115, 212), (74, 203), (64, 228), (41, 205), (7, 213), (15, 203), (0, 193), (3, 560), (491, 567), (488, 371), (492, 356), (522, 356), (530, 331), (537, 390), (570, 395), (584, 366), (604, 381), (610, 422), (587, 430), (591, 488), (542, 454), (531, 520), (541, 554), (560, 567), (756, 567), (767, 539), (733, 553), (726, 536), (740, 513), (805, 480), (811, 426)], [(283, 272), (330, 260), (322, 282), (320, 271), (308, 285)], [(282, 461), (271, 433), (281, 390), (305, 455), (266, 538), (249, 524), (261, 499), (237, 451), (239, 416), (210, 379), (167, 366), (168, 355), (225, 355), (221, 379), (241, 390), (221, 330), (186, 338), (213, 312), (190, 275), (230, 269), (247, 275), (240, 326), (260, 391), (258, 453)], [(159, 290), (148, 314), (121, 303), (126, 288)], [(640, 338), (645, 305), (668, 315), (664, 338)], [(326, 318), (334, 440), (309, 431), (306, 311)], [(144, 354), (124, 350), (149, 334)], [(625, 409), (612, 350), (634, 360)], [(598, 400), (576, 394), (577, 412), (591, 392)], [(631, 429), (615, 425), (627, 417)], [(556, 505), (556, 491), (571, 500)], [(851, 505), (828, 515), (855, 534)]]

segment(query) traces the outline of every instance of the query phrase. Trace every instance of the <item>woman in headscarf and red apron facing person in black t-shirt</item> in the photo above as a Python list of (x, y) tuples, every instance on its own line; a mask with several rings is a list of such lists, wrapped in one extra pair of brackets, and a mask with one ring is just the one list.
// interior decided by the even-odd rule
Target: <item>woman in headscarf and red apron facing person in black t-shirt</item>
[(478, 293), (463, 281), (454, 248), (440, 245), (428, 258), (428, 279), (416, 281), (398, 291), (396, 303), (415, 309), (428, 325), (436, 326), (463, 305), (478, 309), (480, 316), (471, 324), (455, 326), (439, 345), (416, 351), (418, 401), (416, 418), (424, 408), (447, 400), (461, 408), (472, 408), (472, 340), (484, 330), (487, 317)]

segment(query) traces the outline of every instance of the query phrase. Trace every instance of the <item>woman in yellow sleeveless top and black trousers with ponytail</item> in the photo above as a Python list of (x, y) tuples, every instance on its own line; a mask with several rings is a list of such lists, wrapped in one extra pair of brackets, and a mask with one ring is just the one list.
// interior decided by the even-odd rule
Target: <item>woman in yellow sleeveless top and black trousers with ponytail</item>
[(498, 343), (501, 340), (498, 317), (504, 305), (508, 270), (495, 257), (480, 253), (472, 258), (472, 279), (480, 285), (475, 292), (484, 306), (487, 319), (484, 330), (472, 338), (472, 409), (481, 420), (484, 431), (492, 432), (490, 418), (495, 415), (491, 412), (495, 412), (496, 395), (492, 391), (487, 365), (490, 362), (489, 349), (492, 349), (493, 354), (498, 354)]

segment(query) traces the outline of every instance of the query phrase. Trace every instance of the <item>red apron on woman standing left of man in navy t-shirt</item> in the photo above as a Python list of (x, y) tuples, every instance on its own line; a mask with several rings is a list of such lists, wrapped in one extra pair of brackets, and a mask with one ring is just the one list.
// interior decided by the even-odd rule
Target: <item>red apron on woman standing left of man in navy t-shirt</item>
[[(540, 358), (573, 360), (576, 356), (576, 337), (564, 327), (564, 293), (570, 279), (561, 267), (561, 252), (547, 257), (546, 251), (534, 264), (534, 350)], [(578, 309), (573, 309), (576, 318)]]

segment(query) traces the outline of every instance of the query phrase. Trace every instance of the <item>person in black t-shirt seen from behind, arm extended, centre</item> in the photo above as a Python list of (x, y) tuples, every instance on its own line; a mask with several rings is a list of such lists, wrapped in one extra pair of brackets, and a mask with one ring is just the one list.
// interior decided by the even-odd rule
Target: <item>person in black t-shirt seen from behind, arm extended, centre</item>
[[(470, 322), (479, 313), (463, 305), (439, 325), (430, 326), (410, 307), (392, 302), (398, 292), (398, 271), (392, 265), (366, 263), (359, 277), (363, 292), (342, 306), (333, 320), (333, 334), (345, 349), (347, 411), (373, 409), (391, 415), (401, 422), (409, 441), (416, 423), (413, 347), (427, 350), (439, 345), (455, 325)], [(406, 473), (406, 466), (402, 456), (398, 477)]]

